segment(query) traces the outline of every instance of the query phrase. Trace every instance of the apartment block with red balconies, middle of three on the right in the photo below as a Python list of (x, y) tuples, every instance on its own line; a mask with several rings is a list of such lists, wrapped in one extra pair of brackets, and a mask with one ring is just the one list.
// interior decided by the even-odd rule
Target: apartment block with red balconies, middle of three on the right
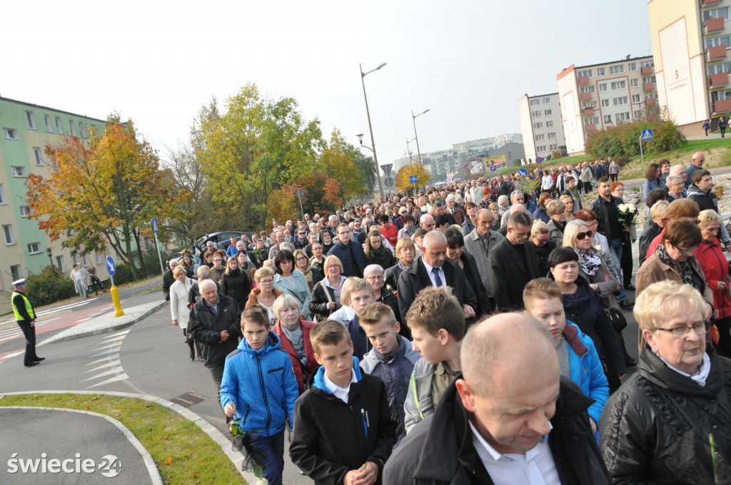
[(594, 131), (640, 118), (657, 102), (652, 56), (570, 66), (557, 76), (569, 155), (584, 153)]

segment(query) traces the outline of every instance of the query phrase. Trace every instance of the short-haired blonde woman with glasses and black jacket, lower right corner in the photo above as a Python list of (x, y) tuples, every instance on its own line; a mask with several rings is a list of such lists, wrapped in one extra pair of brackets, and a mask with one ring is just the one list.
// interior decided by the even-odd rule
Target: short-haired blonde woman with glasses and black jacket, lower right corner
[(647, 348), (599, 421), (614, 483), (731, 483), (731, 360), (708, 345), (707, 307), (694, 286), (674, 280), (637, 297)]

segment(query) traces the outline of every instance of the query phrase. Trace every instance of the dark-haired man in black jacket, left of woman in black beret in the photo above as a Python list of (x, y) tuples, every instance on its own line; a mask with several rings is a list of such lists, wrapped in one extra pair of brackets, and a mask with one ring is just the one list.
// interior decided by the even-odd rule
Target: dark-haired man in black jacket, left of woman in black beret
[(523, 288), (540, 276), (536, 250), (525, 244), (531, 223), (528, 213), (510, 214), (505, 239), (488, 255), (490, 284), (500, 311), (522, 310)]

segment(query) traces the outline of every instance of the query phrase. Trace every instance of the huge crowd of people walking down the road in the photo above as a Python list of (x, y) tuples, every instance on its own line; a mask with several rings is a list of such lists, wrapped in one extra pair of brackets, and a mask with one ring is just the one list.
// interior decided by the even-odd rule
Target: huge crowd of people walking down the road
[(704, 161), (651, 164), (640, 235), (608, 159), (192, 246), (163, 292), (270, 484), (285, 435), (317, 484), (731, 483), (731, 238)]

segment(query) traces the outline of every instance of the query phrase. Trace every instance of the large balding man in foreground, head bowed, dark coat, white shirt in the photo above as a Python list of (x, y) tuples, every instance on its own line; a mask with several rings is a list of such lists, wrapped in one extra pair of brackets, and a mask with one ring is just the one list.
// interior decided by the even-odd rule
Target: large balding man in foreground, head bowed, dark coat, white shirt
[(473, 326), (461, 367), (386, 462), (385, 485), (611, 483), (586, 412), (594, 400), (559, 376), (537, 320), (503, 313)]

